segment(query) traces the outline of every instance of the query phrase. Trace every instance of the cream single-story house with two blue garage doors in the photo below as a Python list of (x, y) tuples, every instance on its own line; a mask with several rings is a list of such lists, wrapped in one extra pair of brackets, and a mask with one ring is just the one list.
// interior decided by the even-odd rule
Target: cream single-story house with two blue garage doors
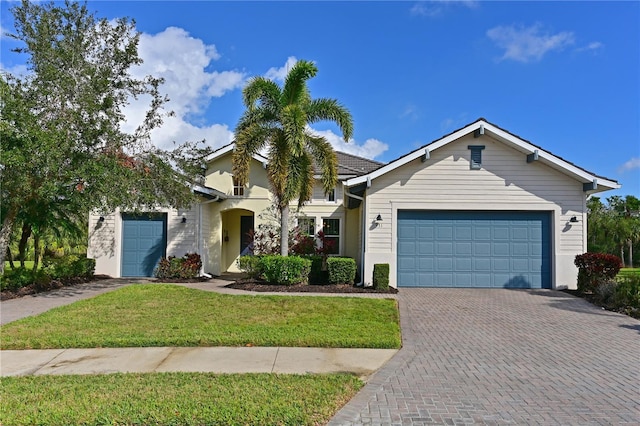
[[(92, 216), (96, 273), (149, 275), (158, 255), (186, 252), (201, 254), (206, 273), (237, 271), (271, 194), (260, 155), (248, 185), (235, 184), (232, 150), (210, 156), (192, 209)], [(620, 187), (482, 118), (387, 164), (338, 159), (338, 186), (316, 185), (299, 225), (355, 258), (364, 285), (388, 263), (394, 287), (576, 288), (586, 199)]]

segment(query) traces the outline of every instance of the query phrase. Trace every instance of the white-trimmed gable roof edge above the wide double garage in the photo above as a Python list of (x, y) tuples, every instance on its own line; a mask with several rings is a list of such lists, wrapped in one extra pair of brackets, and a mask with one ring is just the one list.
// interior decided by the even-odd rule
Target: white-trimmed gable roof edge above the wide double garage
[(542, 149), (541, 147), (532, 144), (531, 142), (510, 133), (495, 124), (492, 124), (485, 120), (484, 118), (479, 118), (471, 124), (468, 124), (458, 130), (455, 130), (448, 135), (443, 136), (440, 139), (437, 139), (431, 143), (423, 145), (422, 147), (410, 152), (409, 154), (403, 155), (386, 165), (378, 167), (377, 169), (366, 173), (364, 175), (349, 179), (345, 182), (347, 186), (359, 185), (364, 182), (371, 181), (377, 177), (380, 177), (392, 170), (397, 169), (413, 160), (421, 158), (426, 154), (437, 150), (451, 142), (454, 142), (460, 139), (463, 136), (466, 136), (470, 133), (479, 132), (484, 136), (482, 137), (490, 137), (494, 140), (502, 142), (506, 145), (515, 148), (516, 150), (525, 154), (523, 156), (523, 161), (526, 160), (527, 155), (535, 155), (536, 160), (541, 163), (552, 167), (561, 173), (564, 173), (568, 176), (573, 177), (579, 182), (582, 182), (585, 185), (589, 185), (595, 182), (595, 187), (593, 189), (588, 190), (588, 193), (601, 192), (606, 191), (608, 189), (617, 189), (620, 188), (620, 184), (613, 179), (608, 179), (603, 176), (598, 176), (594, 173), (591, 173), (575, 164), (558, 157), (552, 154), (549, 151)]

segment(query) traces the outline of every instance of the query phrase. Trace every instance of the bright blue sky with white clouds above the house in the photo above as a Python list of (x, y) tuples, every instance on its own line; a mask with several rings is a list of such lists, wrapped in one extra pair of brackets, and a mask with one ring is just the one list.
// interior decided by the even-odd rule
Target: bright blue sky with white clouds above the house
[[(0, 26), (12, 31), (2, 1)], [(166, 79), (176, 116), (154, 141), (233, 137), (248, 78), (314, 61), (314, 97), (341, 101), (337, 149), (393, 160), (479, 117), (640, 196), (640, 2), (90, 1), (143, 33), (138, 73)], [(1, 66), (24, 58), (2, 39)], [(142, 106), (127, 111), (130, 124)], [(133, 125), (133, 124), (131, 124)]]

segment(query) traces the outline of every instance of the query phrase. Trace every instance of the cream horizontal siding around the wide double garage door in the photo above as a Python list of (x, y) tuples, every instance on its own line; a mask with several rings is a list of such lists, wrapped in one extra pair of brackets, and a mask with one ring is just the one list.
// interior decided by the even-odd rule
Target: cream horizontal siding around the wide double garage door
[[(485, 146), (480, 170), (470, 169), (468, 145)], [(572, 258), (585, 250), (584, 200), (580, 182), (540, 163), (527, 163), (525, 154), (501, 142), (469, 135), (435, 150), (425, 163), (417, 159), (373, 180), (366, 222), (373, 223), (378, 214), (383, 222), (368, 231), (367, 252), (372, 259), (388, 256), (395, 266), (395, 220), (402, 209), (542, 210), (552, 212), (554, 254)], [(579, 222), (569, 225), (571, 216)], [(566, 276), (556, 271), (556, 281), (575, 281), (573, 267), (569, 269)]]

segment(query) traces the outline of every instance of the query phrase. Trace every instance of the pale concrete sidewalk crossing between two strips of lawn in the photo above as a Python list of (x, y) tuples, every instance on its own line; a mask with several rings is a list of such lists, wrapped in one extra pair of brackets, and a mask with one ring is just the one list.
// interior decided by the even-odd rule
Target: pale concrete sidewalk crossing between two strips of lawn
[(363, 380), (396, 349), (160, 347), (0, 351), (0, 376), (116, 372), (354, 373)]

